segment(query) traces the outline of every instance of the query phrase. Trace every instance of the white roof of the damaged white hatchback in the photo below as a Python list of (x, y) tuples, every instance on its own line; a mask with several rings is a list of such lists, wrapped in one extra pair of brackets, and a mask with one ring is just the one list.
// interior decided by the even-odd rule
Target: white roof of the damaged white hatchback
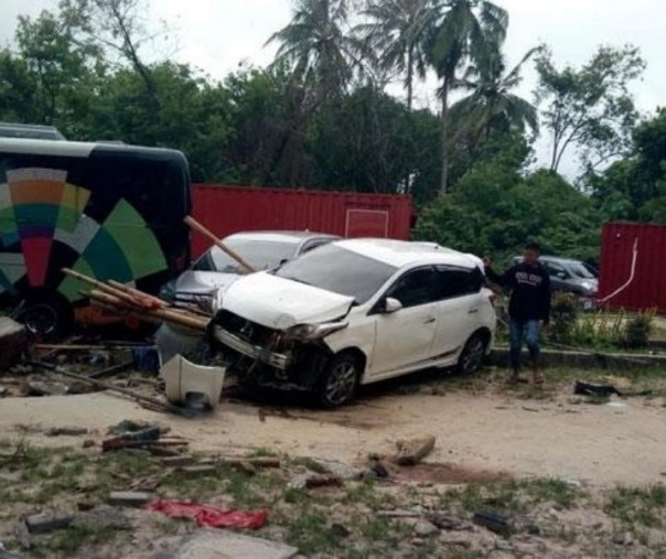
[(366, 238), (339, 240), (335, 246), (396, 268), (418, 264), (441, 264), (462, 268), (479, 267), (479, 261), (474, 256), (442, 247), (436, 243)]

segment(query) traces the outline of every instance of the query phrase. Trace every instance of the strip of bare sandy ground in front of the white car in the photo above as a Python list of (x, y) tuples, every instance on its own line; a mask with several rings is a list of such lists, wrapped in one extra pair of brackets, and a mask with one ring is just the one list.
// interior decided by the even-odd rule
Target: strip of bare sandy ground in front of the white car
[[(660, 400), (599, 406), (572, 404), (563, 394), (546, 400), (466, 391), (373, 394), (337, 411), (224, 400), (215, 415), (197, 419), (155, 413), (104, 393), (0, 400), (4, 438), (18, 437), (18, 424), (41, 424), (87, 427), (100, 439), (123, 419), (168, 423), (194, 450), (227, 454), (267, 448), (353, 463), (370, 452), (390, 453), (400, 439), (431, 433), (438, 442), (429, 462), (480, 475), (557, 476), (594, 485), (666, 479), (666, 408)], [(82, 441), (28, 437), (54, 445)]]

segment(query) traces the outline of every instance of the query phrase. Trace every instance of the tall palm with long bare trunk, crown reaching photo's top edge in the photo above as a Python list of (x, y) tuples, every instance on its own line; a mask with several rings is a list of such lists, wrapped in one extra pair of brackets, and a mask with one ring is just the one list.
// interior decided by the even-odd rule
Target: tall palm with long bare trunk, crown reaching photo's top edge
[(442, 82), (442, 175), (440, 189), (449, 189), (449, 95), (458, 69), (468, 61), (481, 61), (504, 42), (508, 13), (487, 0), (437, 0), (441, 18), (430, 46), (430, 62)]

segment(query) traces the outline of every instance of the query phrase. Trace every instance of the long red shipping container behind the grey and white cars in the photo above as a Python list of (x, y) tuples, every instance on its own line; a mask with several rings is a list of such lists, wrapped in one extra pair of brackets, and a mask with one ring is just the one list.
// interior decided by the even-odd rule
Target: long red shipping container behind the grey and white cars
[[(409, 239), (411, 196), (194, 184), (194, 218), (218, 237), (247, 230), (311, 230)], [(192, 256), (211, 243), (193, 234)]]

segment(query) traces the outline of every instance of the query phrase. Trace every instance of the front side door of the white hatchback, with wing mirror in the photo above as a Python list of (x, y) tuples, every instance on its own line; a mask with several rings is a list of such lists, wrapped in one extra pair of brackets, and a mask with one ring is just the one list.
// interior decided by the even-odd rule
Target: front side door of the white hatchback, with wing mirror
[(434, 267), (409, 270), (388, 289), (386, 298), (400, 301), (402, 309), (375, 315), (376, 342), (368, 377), (389, 376), (430, 358), (439, 305)]

